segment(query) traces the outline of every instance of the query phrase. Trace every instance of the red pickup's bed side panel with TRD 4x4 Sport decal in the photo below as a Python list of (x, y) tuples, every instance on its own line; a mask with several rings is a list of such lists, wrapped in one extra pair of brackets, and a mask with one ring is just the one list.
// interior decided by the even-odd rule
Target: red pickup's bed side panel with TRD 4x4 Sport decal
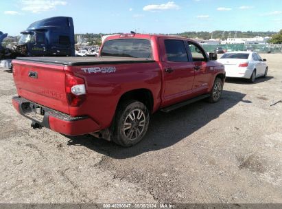
[[(89, 73), (85, 70), (91, 67), (115, 67), (116, 70), (108, 73)], [(154, 98), (154, 111), (161, 103), (161, 69), (156, 62), (68, 66), (65, 70), (84, 78), (86, 83), (86, 101), (79, 108), (70, 107), (70, 114), (89, 115), (100, 124), (101, 129), (110, 126), (119, 98), (128, 91), (144, 88), (150, 90)]]

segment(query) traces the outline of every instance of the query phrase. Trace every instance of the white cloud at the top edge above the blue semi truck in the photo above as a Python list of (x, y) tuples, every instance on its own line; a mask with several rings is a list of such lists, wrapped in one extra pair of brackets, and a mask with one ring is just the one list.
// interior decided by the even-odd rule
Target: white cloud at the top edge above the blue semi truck
[(67, 5), (67, 1), (57, 0), (22, 0), (21, 10), (33, 13), (45, 12), (53, 10), (58, 5)]

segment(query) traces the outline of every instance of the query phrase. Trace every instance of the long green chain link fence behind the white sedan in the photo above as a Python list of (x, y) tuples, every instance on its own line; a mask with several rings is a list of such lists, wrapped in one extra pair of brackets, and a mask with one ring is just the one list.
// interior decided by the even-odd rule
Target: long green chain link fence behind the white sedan
[(253, 52), (259, 53), (282, 53), (282, 45), (276, 44), (202, 44), (202, 47), (204, 47), (204, 50), (207, 52), (213, 52), (216, 47), (222, 47), (224, 50), (226, 50), (226, 52), (251, 50)]

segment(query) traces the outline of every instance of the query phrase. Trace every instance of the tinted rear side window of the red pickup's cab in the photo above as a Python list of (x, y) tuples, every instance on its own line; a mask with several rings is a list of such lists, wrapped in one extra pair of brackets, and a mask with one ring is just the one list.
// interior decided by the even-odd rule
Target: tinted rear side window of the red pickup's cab
[(181, 40), (165, 40), (165, 51), (167, 53), (167, 61), (188, 62), (185, 44)]

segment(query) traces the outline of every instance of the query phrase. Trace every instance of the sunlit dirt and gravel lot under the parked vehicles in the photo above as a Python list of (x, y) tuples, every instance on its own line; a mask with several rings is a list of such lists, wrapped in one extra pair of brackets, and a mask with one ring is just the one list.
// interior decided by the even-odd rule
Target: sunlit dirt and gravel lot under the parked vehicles
[(156, 113), (132, 148), (31, 129), (0, 69), (0, 203), (282, 203), (282, 54), (262, 57), (268, 78)]

